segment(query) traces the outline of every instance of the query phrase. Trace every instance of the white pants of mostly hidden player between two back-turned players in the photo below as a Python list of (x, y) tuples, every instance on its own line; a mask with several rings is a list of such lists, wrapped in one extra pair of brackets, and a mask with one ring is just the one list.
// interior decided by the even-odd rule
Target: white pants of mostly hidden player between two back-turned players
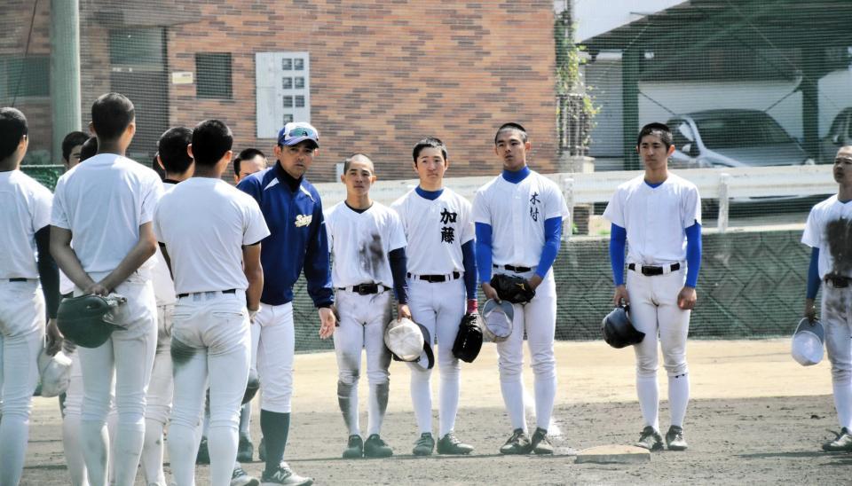
[(157, 306), (157, 349), (154, 352), (154, 369), (148, 382), (145, 409), (145, 443), (142, 446), (141, 465), (148, 484), (165, 484), (162, 472), (162, 428), (171, 412), (171, 325), (173, 304)]

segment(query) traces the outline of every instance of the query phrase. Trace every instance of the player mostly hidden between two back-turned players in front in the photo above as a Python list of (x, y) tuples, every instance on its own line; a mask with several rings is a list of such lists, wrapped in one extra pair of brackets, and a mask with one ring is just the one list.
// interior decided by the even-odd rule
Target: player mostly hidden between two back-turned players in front
[[(174, 127), (166, 130), (157, 142), (156, 161), (164, 171), (163, 189), (168, 192), (175, 184), (193, 176), (193, 159), (186, 152), (192, 143), (193, 130)], [(142, 447), (142, 471), (147, 484), (166, 484), (162, 472), (162, 429), (171, 412), (172, 367), (171, 327), (175, 310), (175, 283), (159, 247), (152, 258), (152, 281), (157, 302), (157, 348), (154, 369), (148, 383), (145, 411), (145, 443)]]

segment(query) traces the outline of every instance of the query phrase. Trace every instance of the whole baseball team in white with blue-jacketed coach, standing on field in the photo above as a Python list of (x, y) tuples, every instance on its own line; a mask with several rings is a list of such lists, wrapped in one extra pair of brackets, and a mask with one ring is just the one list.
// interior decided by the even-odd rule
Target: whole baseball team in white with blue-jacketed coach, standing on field
[[(461, 361), (476, 357), (478, 331), (498, 352), (511, 429), (499, 451), (554, 453), (552, 267), (569, 208), (559, 187), (528, 167), (532, 145), (523, 126), (496, 129), (501, 172), (472, 203), (444, 185), (446, 145), (425, 137), (412, 151), (419, 184), (390, 207), (370, 196), (376, 170), (369, 155), (353, 153), (340, 176), (346, 199), (326, 208), (305, 178), (320, 147), (309, 123), (280, 129), (271, 164), (256, 149), (234, 159), (224, 122), (169, 129), (154, 158), (162, 175), (125, 157), (135, 130), (128, 98), (98, 98), (91, 137), (66, 137), (68, 170), (51, 193), (20, 170), (29, 142), (25, 115), (0, 109), (0, 486), (20, 482), (40, 375), (43, 396), (62, 393), (68, 482), (75, 486), (131, 485), (140, 465), (146, 484), (192, 485), (196, 462), (209, 462), (216, 485), (312, 484), (283, 460), (300, 275), (319, 313), (319, 337), (334, 340), (343, 458), (393, 455), (382, 427), (394, 359), (411, 370), (419, 432), (412, 453), (474, 451), (454, 430)], [(695, 184), (668, 170), (675, 146), (666, 125), (644, 126), (636, 150), (643, 174), (620, 184), (604, 212), (612, 301), (628, 316), (627, 327), (610, 330), (623, 335), (607, 341), (635, 349), (643, 417), (635, 445), (684, 451), (701, 200)], [(236, 186), (223, 178), (232, 160)], [(852, 146), (840, 148), (833, 176), (839, 191), (811, 210), (802, 239), (813, 247), (804, 316), (816, 321), (822, 286), (841, 427), (823, 447), (852, 451)], [(531, 395), (522, 380), (524, 341)], [(665, 435), (659, 349), (668, 375)], [(362, 363), (367, 427), (359, 423)], [(258, 388), (264, 469), (256, 478), (240, 460), (253, 454), (247, 402)], [(525, 416), (530, 396), (534, 427)]]

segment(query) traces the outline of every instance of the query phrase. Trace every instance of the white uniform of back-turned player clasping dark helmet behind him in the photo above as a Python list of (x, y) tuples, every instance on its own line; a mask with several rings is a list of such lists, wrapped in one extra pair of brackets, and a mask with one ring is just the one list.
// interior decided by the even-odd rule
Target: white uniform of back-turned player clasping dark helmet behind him
[[(135, 247), (139, 227), (150, 223), (162, 194), (160, 177), (121, 155), (100, 153), (59, 177), (51, 224), (71, 231), (74, 252), (96, 282)], [(146, 387), (154, 364), (156, 303), (145, 265), (114, 291), (127, 297), (120, 324), (96, 349), (79, 348), (83, 367), (80, 436), (92, 484), (106, 482), (106, 415), (115, 380), (118, 411), (114, 444), (115, 481), (133, 481), (145, 439)], [(75, 294), (82, 294), (75, 288)]]

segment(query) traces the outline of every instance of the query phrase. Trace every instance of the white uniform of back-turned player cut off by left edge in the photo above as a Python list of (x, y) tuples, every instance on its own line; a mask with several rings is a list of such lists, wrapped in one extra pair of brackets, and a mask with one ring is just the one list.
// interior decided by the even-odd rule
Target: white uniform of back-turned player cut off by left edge
[(27, 451), (45, 325), (36, 231), (50, 223), (51, 200), (20, 170), (0, 172), (0, 484), (18, 484)]

